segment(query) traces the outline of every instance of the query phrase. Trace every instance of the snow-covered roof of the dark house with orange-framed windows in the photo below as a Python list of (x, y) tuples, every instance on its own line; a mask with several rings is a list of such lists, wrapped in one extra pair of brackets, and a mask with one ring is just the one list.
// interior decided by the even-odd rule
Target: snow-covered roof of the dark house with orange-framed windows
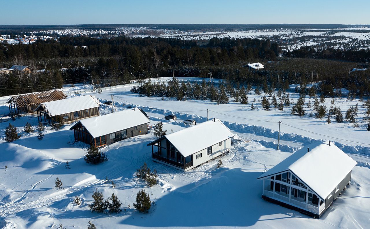
[(127, 109), (107, 115), (83, 119), (74, 124), (72, 130), (81, 123), (93, 138), (149, 123), (150, 120), (139, 109)]

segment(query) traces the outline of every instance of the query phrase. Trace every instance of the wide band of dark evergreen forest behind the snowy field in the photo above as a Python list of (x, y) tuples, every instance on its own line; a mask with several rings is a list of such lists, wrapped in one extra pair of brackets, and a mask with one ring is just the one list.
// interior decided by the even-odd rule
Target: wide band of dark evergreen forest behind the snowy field
[[(83, 47), (87, 46), (87, 47)], [(354, 95), (370, 94), (366, 67), (370, 51), (310, 49), (282, 52), (277, 42), (251, 38), (212, 38), (209, 41), (178, 38), (96, 39), (60, 37), (33, 44), (0, 47), (0, 67), (28, 65), (30, 75), (13, 72), (0, 78), (0, 94), (12, 95), (60, 88), (64, 84), (91, 82), (114, 86), (129, 80), (164, 76), (209, 77), (231, 83), (273, 88), (289, 83), (322, 82), (319, 93), (333, 95), (334, 88), (347, 88)], [(261, 62), (258, 71), (243, 67)], [(279, 82), (278, 80), (279, 76)]]

